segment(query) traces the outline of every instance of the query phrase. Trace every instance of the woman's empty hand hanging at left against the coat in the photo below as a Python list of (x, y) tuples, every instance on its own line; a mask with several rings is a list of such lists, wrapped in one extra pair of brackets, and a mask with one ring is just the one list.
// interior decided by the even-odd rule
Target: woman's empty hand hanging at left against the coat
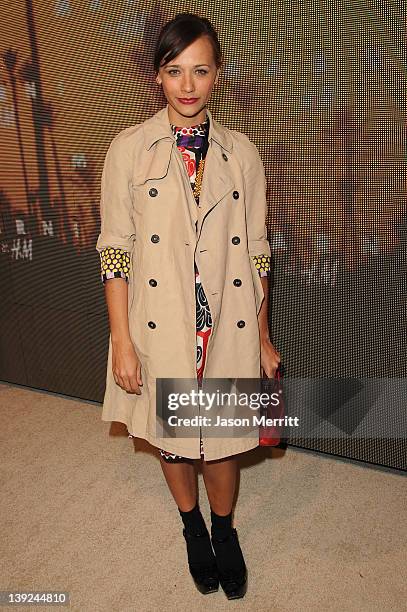
[(128, 393), (141, 395), (141, 363), (131, 340), (112, 342), (112, 370), (116, 384)]

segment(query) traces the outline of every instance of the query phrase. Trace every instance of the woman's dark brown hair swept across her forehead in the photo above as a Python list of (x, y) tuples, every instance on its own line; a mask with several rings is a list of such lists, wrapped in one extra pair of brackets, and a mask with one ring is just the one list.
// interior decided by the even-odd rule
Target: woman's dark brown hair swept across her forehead
[(178, 13), (163, 26), (158, 36), (154, 51), (155, 72), (158, 73), (161, 65), (168, 64), (201, 36), (209, 38), (215, 63), (219, 68), (223, 61), (222, 50), (211, 22), (206, 17), (199, 17), (194, 13)]

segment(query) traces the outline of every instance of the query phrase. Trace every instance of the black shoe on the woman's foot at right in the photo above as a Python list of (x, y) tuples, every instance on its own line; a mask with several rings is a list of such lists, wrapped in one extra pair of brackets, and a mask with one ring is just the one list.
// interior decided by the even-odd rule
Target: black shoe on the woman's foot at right
[[(228, 599), (244, 597), (247, 591), (247, 568), (236, 529), (233, 527), (228, 535), (212, 536), (211, 539), (216, 555), (219, 581), (226, 597)], [(233, 562), (231, 562), (232, 559)]]

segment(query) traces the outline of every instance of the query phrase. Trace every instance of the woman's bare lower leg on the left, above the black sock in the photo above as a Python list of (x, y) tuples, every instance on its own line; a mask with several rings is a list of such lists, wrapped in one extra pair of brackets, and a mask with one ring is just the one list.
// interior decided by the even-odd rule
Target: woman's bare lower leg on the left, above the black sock
[(178, 508), (188, 512), (198, 498), (195, 466), (191, 463), (168, 463), (160, 455), (161, 467)]

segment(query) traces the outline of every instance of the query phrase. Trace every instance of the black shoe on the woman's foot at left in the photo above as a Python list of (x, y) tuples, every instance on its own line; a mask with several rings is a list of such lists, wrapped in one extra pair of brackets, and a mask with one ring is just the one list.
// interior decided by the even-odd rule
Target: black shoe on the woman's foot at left
[[(219, 589), (219, 573), (208, 530), (190, 533), (184, 529), (182, 533), (187, 544), (189, 571), (196, 588), (203, 595), (215, 593)], [(197, 560), (199, 556), (203, 559), (201, 562)]]

